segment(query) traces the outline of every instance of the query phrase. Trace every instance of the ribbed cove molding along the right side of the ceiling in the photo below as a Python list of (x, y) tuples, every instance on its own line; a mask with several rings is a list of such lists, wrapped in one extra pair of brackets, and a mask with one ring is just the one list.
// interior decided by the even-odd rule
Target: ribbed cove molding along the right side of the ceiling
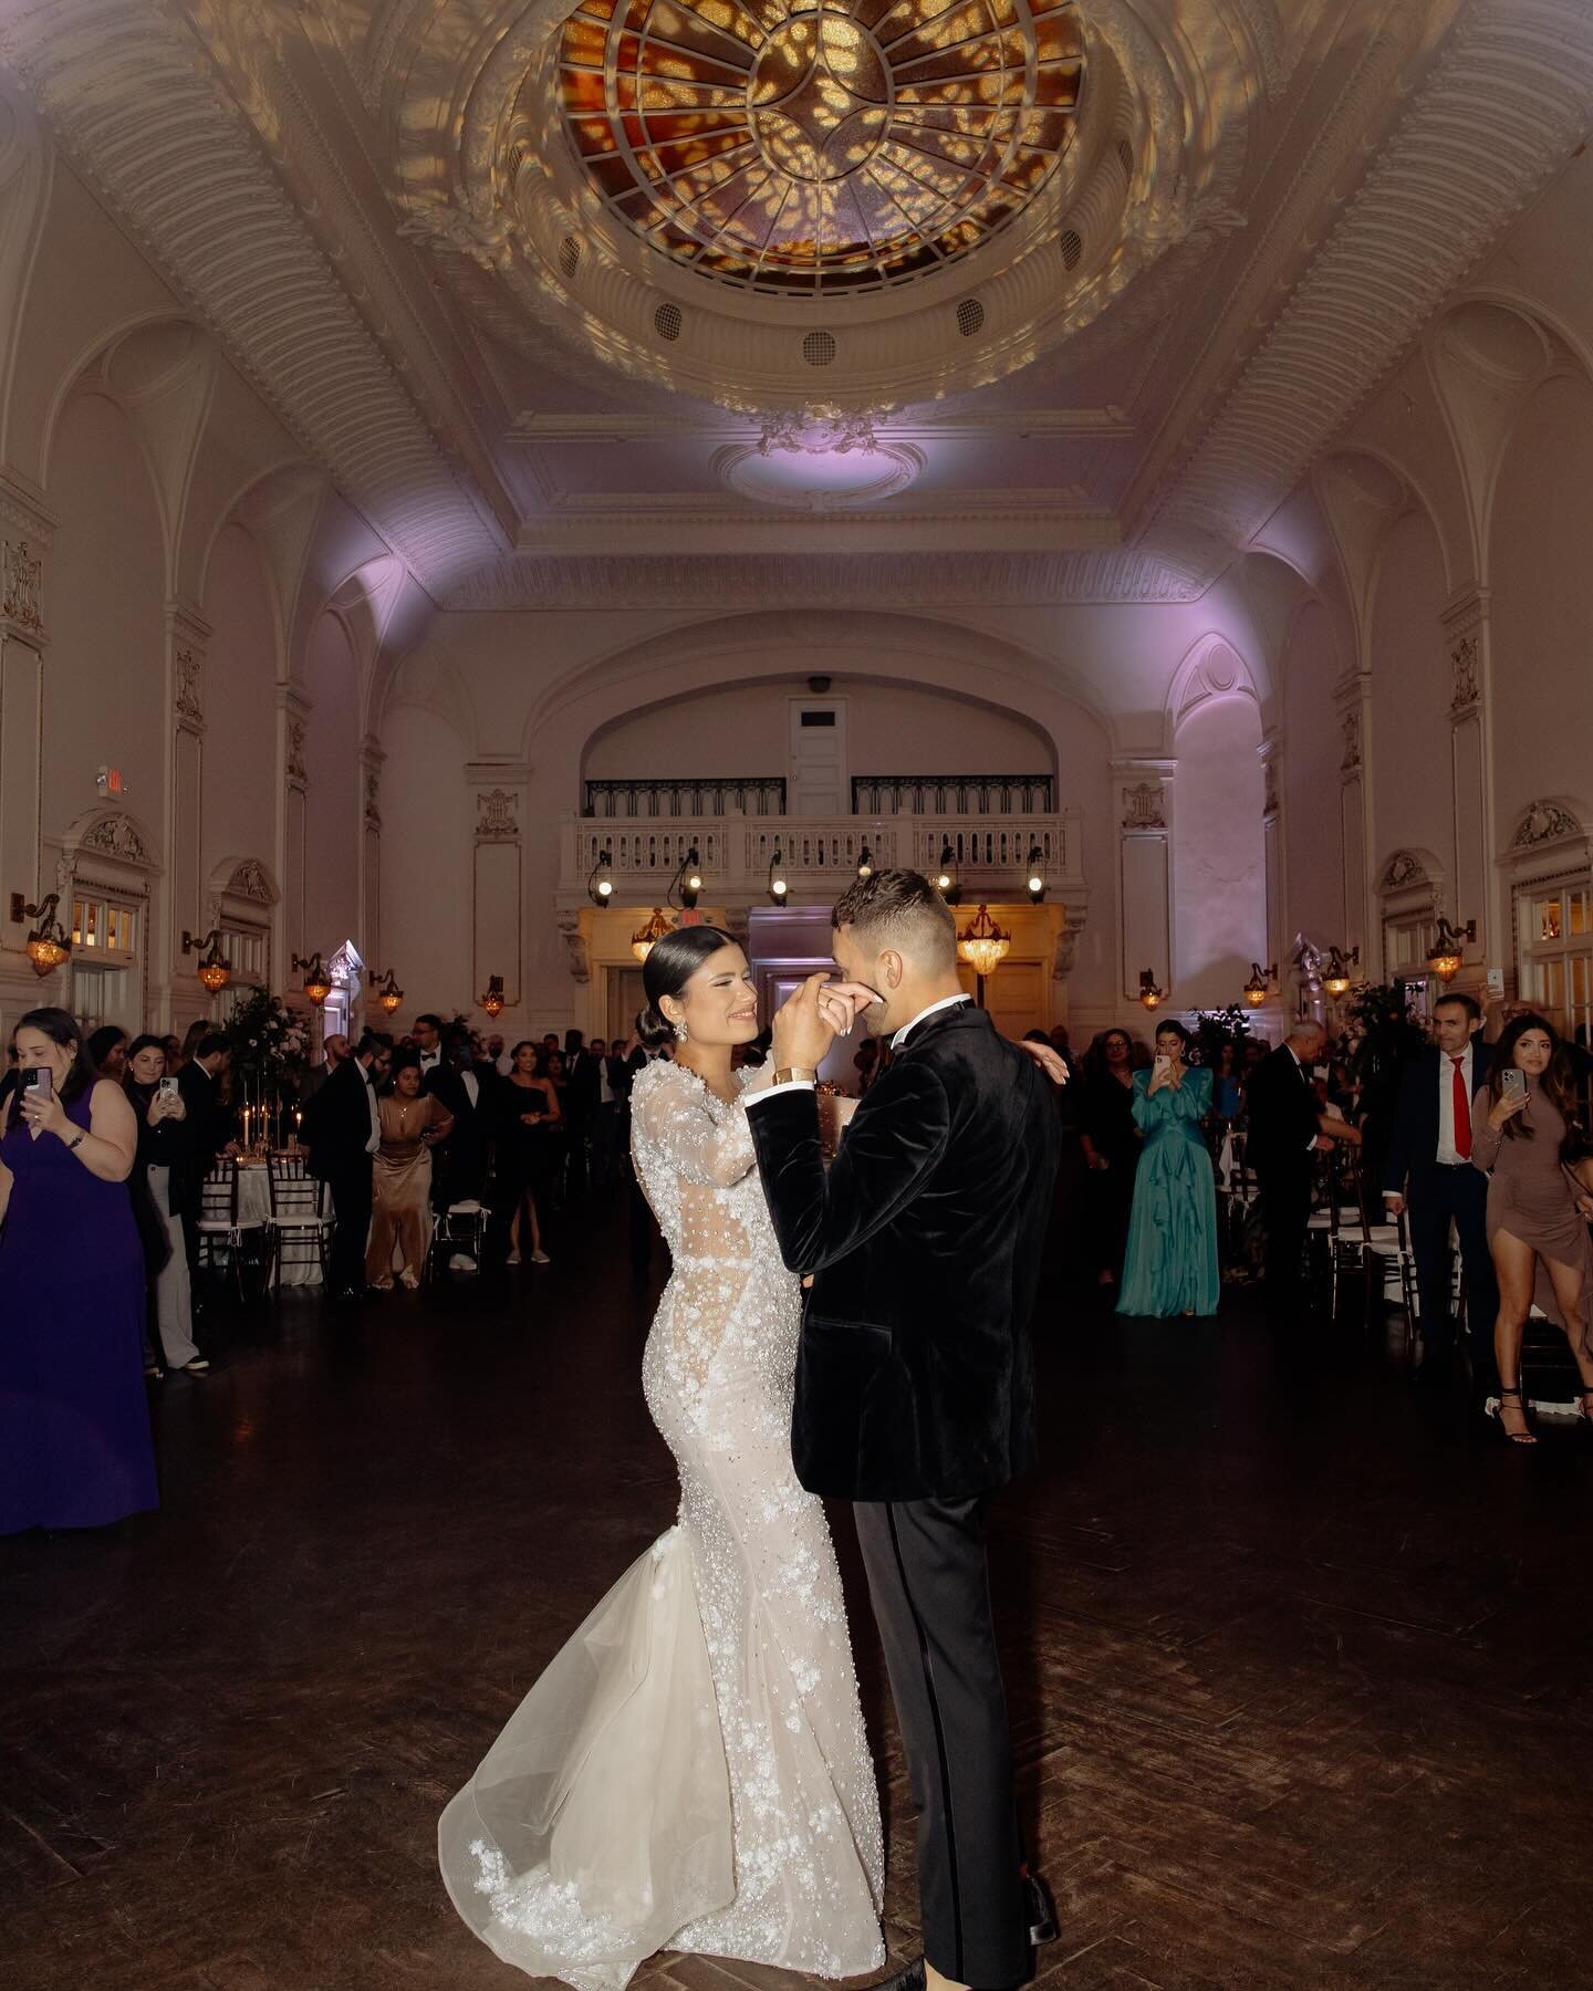
[(1474, 0), (1139, 544), (1213, 579), (1589, 127), (1589, 0)]

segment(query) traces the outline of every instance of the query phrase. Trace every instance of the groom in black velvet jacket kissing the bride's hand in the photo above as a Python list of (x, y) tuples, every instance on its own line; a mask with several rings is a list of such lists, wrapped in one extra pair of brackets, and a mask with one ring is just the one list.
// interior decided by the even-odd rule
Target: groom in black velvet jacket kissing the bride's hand
[(856, 1501), (918, 1804), (924, 1957), (890, 1987), (1002, 1991), (1029, 1975), (1037, 1889), (982, 1499), (1035, 1455), (1027, 1328), (1057, 1113), (1045, 1077), (958, 986), (956, 920), (928, 878), (874, 872), (832, 924), (846, 980), (830, 990), (890, 1033), (896, 1061), (826, 1175), (814, 1083), (834, 1033), (818, 999), (828, 978), (812, 976), (775, 1017), (775, 1085), (747, 1107), (785, 1262), (812, 1286), (796, 1477)]

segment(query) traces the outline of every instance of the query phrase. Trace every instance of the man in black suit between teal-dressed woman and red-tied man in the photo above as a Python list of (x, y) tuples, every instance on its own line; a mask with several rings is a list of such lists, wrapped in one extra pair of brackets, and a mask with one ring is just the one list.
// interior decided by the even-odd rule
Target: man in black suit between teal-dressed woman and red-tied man
[(1360, 1131), (1322, 1113), (1312, 1065), (1328, 1033), (1302, 1017), (1251, 1073), (1245, 1087), (1245, 1159), (1256, 1171), (1260, 1220), (1266, 1228), (1266, 1316), (1292, 1328), (1304, 1306), (1300, 1260), (1310, 1226), (1310, 1183), (1316, 1155), (1334, 1141), (1360, 1145)]

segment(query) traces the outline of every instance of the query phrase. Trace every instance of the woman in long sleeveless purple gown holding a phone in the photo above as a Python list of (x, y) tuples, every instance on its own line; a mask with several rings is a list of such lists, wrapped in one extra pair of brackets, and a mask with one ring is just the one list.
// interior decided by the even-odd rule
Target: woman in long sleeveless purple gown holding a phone
[(137, 1123), (66, 1009), (16, 1025), (0, 1137), (0, 1535), (159, 1505), (143, 1390)]

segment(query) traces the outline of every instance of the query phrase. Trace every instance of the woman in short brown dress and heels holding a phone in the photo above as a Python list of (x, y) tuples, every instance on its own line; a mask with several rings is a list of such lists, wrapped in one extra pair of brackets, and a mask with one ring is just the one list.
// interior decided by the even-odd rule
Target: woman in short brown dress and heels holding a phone
[[(1525, 1087), (1507, 1089), (1507, 1071), (1519, 1071)], [(1553, 1025), (1517, 1015), (1472, 1105), (1472, 1161), (1489, 1177), (1487, 1244), (1499, 1274), (1499, 1426), (1517, 1445), (1535, 1443), (1521, 1400), (1521, 1336), (1533, 1300), (1565, 1330), (1581, 1374), (1581, 1416), (1593, 1420), (1593, 1197), (1571, 1173), (1585, 1145), (1571, 1063)]]

